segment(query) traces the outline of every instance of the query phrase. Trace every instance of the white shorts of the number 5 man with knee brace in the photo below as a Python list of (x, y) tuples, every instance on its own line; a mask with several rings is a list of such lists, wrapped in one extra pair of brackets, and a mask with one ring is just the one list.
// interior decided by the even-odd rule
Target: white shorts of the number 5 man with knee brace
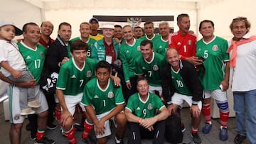
[(213, 91), (203, 91), (203, 98), (207, 99), (213, 97), (217, 101), (228, 101), (227, 92), (223, 92), (221, 89), (215, 89)]

